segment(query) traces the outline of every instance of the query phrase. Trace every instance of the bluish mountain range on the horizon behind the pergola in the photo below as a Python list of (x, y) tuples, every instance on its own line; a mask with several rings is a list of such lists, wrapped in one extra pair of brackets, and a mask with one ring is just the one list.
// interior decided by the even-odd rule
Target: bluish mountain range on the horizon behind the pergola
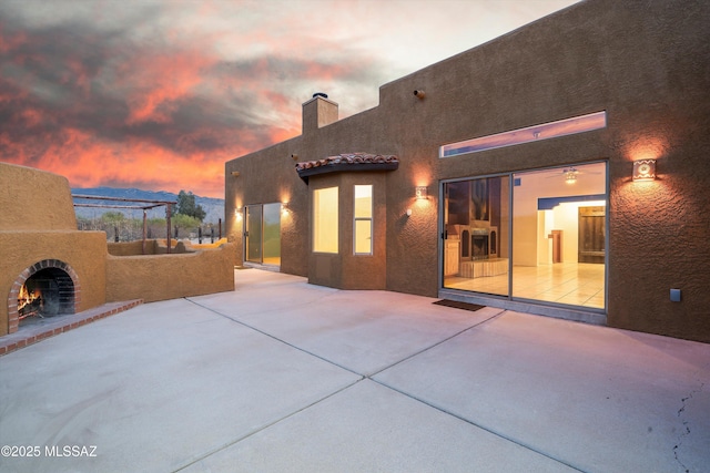
[[(186, 191), (187, 192), (187, 191)], [(91, 195), (100, 197), (113, 197), (113, 198), (135, 198), (145, 200), (170, 200), (176, 202), (178, 194), (173, 194), (165, 191), (141, 191), (136, 188), (116, 188), (116, 187), (91, 187), (91, 188), (72, 188), (72, 195)], [(100, 204), (100, 205), (131, 205), (136, 206), (135, 209), (126, 208), (98, 208), (98, 207), (74, 207), (78, 217), (83, 218), (98, 218), (106, 212), (120, 212), (125, 215), (126, 218), (143, 218), (143, 210), (138, 208), (142, 205), (135, 202), (121, 202), (121, 200), (97, 200), (97, 199), (80, 199), (74, 198), (74, 204)], [(195, 204), (202, 206), (206, 216), (204, 217), (204, 224), (217, 224), (220, 218), (224, 220), (224, 199), (213, 197), (200, 197), (195, 195)], [(176, 213), (176, 208), (173, 205), (173, 214)], [(165, 206), (151, 208), (148, 210), (148, 218), (165, 218)]]

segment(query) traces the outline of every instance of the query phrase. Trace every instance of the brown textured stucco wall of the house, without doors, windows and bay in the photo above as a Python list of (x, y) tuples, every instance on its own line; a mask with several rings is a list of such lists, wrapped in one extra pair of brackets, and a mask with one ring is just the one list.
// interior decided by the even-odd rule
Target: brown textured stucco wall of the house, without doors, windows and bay
[[(375, 109), (226, 163), (227, 205), (273, 200), (275, 182), (301, 218), (308, 193), (292, 154), (394, 154), (387, 289), (436, 296), (442, 181), (607, 162), (608, 325), (710, 341), (708, 24), (706, 1), (577, 3), (383, 85)], [(599, 111), (607, 113), (601, 130), (438, 157), (444, 144)], [(640, 158), (658, 160), (659, 178), (648, 186), (630, 182)], [(248, 181), (231, 179), (230, 171)], [(427, 186), (427, 199), (415, 200), (416, 186)], [(304, 218), (282, 238), (283, 271), (306, 271), (308, 230)], [(671, 287), (682, 290), (681, 302), (670, 302)]]

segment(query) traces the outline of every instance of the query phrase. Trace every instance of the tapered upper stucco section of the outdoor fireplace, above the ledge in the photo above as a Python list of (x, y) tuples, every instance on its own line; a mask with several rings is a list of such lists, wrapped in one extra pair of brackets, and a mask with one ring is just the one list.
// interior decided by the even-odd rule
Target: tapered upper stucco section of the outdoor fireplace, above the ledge
[(77, 215), (63, 176), (0, 163), (0, 232), (75, 230)]

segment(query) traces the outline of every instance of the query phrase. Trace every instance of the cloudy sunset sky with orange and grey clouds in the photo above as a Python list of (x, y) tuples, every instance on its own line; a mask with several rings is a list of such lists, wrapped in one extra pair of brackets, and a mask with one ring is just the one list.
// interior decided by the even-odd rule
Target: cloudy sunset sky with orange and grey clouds
[(0, 161), (224, 197), (224, 163), (576, 0), (0, 0)]

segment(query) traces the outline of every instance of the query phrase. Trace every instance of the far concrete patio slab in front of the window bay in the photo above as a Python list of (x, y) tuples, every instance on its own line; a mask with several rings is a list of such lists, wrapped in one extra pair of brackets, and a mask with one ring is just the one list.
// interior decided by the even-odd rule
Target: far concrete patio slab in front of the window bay
[[(242, 275), (242, 273), (246, 273)], [(371, 376), (491, 317), (501, 309), (452, 310), (437, 299), (389, 291), (343, 291), (284, 277), (292, 284), (261, 286), (266, 271), (241, 271), (230, 292), (195, 298), (202, 307), (263, 331), (362, 376)]]

